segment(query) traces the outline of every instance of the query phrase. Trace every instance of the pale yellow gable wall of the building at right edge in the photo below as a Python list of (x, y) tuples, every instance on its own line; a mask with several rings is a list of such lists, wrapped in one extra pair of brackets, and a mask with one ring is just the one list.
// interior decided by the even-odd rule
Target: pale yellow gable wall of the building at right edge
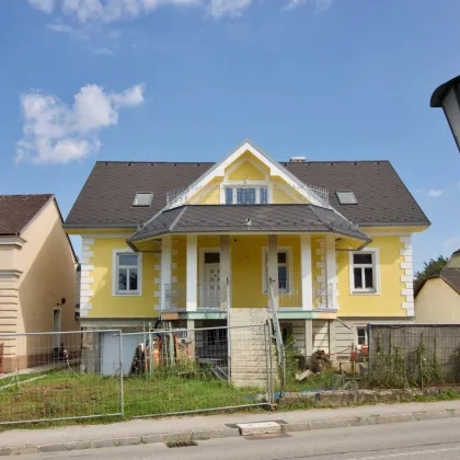
[(415, 298), (417, 323), (459, 323), (460, 295), (444, 279), (428, 279)]

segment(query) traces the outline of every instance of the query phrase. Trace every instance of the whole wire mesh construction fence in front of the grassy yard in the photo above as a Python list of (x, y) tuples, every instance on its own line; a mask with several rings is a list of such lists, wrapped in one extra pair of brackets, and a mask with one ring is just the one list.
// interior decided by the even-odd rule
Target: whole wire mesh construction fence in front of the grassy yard
[(267, 405), (274, 342), (268, 323), (3, 334), (0, 425)]

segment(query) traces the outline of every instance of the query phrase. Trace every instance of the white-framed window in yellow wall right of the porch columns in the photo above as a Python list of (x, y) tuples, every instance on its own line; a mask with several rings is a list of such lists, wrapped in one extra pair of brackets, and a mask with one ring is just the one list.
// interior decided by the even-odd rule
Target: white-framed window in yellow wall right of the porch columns
[(378, 252), (350, 253), (350, 289), (355, 294), (378, 294)]

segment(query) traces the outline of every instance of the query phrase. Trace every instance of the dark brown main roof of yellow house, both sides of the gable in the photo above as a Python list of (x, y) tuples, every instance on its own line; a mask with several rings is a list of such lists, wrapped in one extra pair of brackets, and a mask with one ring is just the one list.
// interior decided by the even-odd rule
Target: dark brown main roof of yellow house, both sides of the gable
[[(281, 163), (301, 182), (323, 186), (330, 203), (359, 226), (427, 226), (428, 219), (388, 161)], [(166, 193), (186, 187), (214, 163), (97, 162), (66, 227), (136, 228), (166, 204)], [(350, 189), (357, 205), (341, 205), (335, 192)], [(153, 192), (150, 208), (134, 208), (137, 192)]]

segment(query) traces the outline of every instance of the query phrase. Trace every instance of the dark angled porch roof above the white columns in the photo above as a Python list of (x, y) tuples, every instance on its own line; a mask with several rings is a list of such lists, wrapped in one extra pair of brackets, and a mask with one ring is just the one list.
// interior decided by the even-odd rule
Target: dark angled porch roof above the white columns
[(357, 226), (332, 209), (314, 205), (185, 205), (164, 210), (128, 241), (168, 233), (331, 232), (368, 241)]

